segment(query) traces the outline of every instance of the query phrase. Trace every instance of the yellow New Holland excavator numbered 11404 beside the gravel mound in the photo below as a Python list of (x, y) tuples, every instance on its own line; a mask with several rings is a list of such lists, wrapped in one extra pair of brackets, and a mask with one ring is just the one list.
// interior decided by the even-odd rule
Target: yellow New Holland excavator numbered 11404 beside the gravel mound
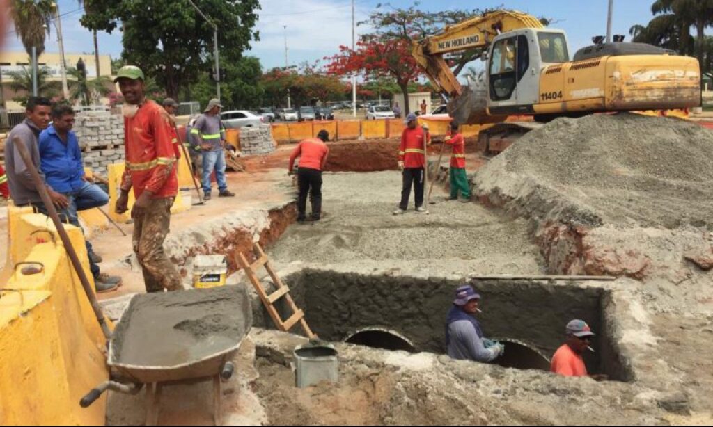
[[(486, 72), (463, 86), (444, 56), (474, 48), (483, 49)], [(448, 100), (454, 120), (497, 124), (481, 131), (479, 145), (486, 151), (502, 151), (556, 117), (701, 105), (696, 58), (645, 43), (597, 40), (570, 61), (564, 31), (517, 11), (493, 11), (446, 26), (415, 41), (413, 55)], [(534, 121), (506, 122), (508, 116)]]

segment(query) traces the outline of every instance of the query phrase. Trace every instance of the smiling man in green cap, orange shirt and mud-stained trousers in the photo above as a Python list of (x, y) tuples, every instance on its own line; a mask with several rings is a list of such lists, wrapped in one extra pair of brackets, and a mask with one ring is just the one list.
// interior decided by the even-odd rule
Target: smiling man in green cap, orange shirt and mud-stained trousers
[(182, 290), (180, 275), (163, 251), (171, 205), (178, 194), (170, 117), (156, 102), (146, 100), (143, 71), (138, 67), (122, 67), (114, 83), (124, 95), (126, 139), (126, 169), (116, 213), (128, 211), (128, 194), (133, 187), (133, 250), (143, 268), (146, 292)]

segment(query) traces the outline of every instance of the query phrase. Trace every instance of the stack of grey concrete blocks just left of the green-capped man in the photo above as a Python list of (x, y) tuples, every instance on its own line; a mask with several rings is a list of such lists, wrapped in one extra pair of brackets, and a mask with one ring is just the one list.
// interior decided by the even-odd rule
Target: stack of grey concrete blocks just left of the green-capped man
[(84, 166), (106, 176), (109, 164), (124, 161), (124, 118), (108, 111), (81, 112), (74, 131), (79, 139)]

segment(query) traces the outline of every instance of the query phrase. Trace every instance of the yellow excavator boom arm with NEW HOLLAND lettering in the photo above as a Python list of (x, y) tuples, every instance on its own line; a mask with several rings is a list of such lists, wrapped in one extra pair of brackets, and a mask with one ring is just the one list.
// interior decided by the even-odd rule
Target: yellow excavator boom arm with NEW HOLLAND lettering
[(434, 87), (451, 96), (461, 95), (463, 89), (456, 75), (443, 59), (444, 53), (486, 48), (500, 33), (519, 28), (543, 28), (534, 16), (517, 11), (494, 11), (453, 26), (447, 26), (437, 36), (414, 42), (413, 55)]

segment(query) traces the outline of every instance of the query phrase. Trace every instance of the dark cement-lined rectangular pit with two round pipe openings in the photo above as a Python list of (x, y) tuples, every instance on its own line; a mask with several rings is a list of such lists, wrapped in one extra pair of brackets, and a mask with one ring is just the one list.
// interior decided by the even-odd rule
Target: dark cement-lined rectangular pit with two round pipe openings
[[(453, 290), (462, 285), (456, 280), (310, 269), (289, 275), (285, 282), (321, 339), (435, 354), (445, 352), (444, 320)], [(606, 290), (526, 279), (476, 279), (473, 286), (483, 295), (483, 313), (478, 317), (486, 337), (506, 344), (502, 366), (548, 369), (550, 357), (563, 344), (564, 326), (580, 318), (597, 332), (592, 343), (595, 352), (585, 354), (588, 371), (617, 381), (633, 379), (608, 335)], [(257, 307), (255, 325), (272, 328), (267, 312)], [(288, 316), (287, 307), (277, 307), (283, 317)]]

